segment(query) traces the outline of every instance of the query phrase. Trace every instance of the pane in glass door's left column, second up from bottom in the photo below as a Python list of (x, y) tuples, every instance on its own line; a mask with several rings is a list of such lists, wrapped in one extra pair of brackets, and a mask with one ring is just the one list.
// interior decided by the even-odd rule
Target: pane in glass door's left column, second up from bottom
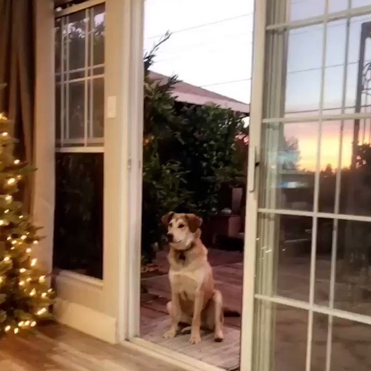
[(309, 300), (312, 218), (260, 214), (256, 292)]

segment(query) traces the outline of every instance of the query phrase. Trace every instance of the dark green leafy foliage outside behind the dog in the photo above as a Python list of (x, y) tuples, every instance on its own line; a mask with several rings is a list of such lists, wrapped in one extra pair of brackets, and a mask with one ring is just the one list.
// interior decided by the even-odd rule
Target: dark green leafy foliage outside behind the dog
[(244, 153), (236, 136), (244, 133), (243, 115), (216, 105), (178, 102), (178, 77), (150, 77), (156, 51), (166, 34), (144, 56), (144, 141), (142, 252), (147, 258), (161, 243), (161, 216), (171, 210), (215, 213), (223, 183), (243, 183)]

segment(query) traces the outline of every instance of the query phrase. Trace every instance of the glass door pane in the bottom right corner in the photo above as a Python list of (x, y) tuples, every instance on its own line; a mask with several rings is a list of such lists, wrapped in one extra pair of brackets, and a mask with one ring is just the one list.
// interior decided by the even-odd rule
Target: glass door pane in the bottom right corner
[(333, 319), (331, 371), (370, 371), (370, 331), (370, 325)]

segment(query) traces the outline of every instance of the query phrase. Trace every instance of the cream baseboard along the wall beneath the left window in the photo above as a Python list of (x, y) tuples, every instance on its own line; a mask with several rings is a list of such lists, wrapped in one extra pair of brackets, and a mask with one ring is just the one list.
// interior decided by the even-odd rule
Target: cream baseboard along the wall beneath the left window
[(113, 317), (59, 298), (55, 300), (53, 313), (60, 324), (75, 328), (110, 344), (117, 343), (116, 319)]

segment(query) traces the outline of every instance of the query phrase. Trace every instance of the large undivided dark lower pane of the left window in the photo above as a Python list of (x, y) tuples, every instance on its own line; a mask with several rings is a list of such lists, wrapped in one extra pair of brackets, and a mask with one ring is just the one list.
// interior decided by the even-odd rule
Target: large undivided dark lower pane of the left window
[(103, 154), (57, 153), (54, 267), (102, 278)]

